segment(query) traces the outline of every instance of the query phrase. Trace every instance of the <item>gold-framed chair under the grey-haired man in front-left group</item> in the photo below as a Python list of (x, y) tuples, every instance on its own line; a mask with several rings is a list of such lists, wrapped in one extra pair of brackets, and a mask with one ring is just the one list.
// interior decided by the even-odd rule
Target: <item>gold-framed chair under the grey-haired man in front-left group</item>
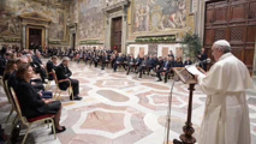
[(68, 89), (67, 89), (67, 90), (68, 90), (68, 96), (72, 95), (72, 100), (74, 100), (74, 93), (73, 93), (73, 89), (72, 89), (72, 86), (71, 86), (71, 81), (70, 81), (69, 79), (58, 80), (58, 79), (57, 79), (57, 76), (56, 76), (56, 73), (55, 73), (54, 70), (52, 70), (52, 73), (53, 73), (53, 78), (54, 78), (54, 81), (55, 81), (55, 84), (56, 84), (56, 87), (57, 87), (57, 89), (56, 89), (56, 91), (55, 91), (54, 98), (57, 97), (57, 93), (58, 93), (58, 95), (59, 95), (59, 96), (58, 96), (58, 99), (60, 100), (60, 95), (61, 95), (61, 92), (62, 92), (63, 90), (60, 89), (59, 83), (64, 82), (64, 81), (68, 81), (68, 82), (69, 82), (69, 87), (68, 87)]

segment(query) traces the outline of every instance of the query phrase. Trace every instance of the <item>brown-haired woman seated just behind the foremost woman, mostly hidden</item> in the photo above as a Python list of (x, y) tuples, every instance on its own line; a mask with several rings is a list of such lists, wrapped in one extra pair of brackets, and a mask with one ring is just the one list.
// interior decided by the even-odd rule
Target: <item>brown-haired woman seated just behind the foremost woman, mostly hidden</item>
[(16, 64), (16, 60), (15, 59), (10, 59), (5, 67), (4, 70), (4, 76), (3, 76), (3, 80), (5, 83), (5, 80), (8, 80), (9, 77), (12, 75), (12, 73), (17, 69), (17, 64)]

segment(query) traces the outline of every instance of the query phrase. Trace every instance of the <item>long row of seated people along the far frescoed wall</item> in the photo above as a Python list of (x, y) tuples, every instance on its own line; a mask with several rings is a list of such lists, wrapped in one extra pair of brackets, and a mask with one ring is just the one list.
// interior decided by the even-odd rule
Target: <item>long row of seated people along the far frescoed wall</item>
[(105, 69), (106, 65), (111, 65), (114, 72), (116, 72), (118, 66), (121, 66), (127, 71), (127, 75), (133, 70), (134, 73), (139, 73), (139, 78), (142, 77), (142, 73), (148, 72), (149, 75), (149, 72), (153, 70), (156, 72), (158, 81), (162, 81), (161, 73), (164, 73), (164, 82), (167, 82), (168, 75), (173, 73), (172, 67), (184, 67), (185, 65), (192, 64), (189, 58), (184, 63), (181, 58), (175, 60), (173, 54), (163, 59), (162, 57), (157, 58), (156, 55), (149, 55), (149, 57), (140, 57), (139, 55), (137, 58), (134, 58), (133, 55), (123, 55), (121, 53), (117, 55), (108, 50), (105, 52), (86, 50), (80, 53), (82, 53), (82, 56), (77, 54), (76, 58), (70, 58), (76, 59), (78, 62), (83, 60), (86, 64), (89, 62), (90, 65), (94, 63), (95, 67), (98, 67), (98, 64), (101, 63), (102, 70)]

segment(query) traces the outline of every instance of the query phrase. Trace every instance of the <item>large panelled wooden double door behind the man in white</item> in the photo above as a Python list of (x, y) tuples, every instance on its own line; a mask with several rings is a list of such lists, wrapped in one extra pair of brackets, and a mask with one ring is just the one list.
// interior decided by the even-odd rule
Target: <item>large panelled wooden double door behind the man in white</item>
[[(256, 39), (255, 0), (206, 3), (204, 48), (212, 61), (211, 46), (221, 39), (230, 42), (232, 53), (247, 65), (252, 74)], [(208, 69), (210, 66), (207, 65)]]

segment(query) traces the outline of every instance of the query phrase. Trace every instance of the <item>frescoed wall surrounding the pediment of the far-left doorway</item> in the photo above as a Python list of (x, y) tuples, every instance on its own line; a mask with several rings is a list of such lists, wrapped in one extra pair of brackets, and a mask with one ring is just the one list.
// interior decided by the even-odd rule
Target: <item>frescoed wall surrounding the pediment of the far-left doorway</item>
[[(40, 0), (44, 2), (44, 0)], [(64, 38), (65, 14), (64, 10), (54, 8), (52, 5), (39, 3), (40, 1), (1, 0), (0, 1), (0, 36), (19, 36), (20, 26), (18, 15), (27, 12), (38, 12), (46, 18), (52, 19), (50, 38)]]

